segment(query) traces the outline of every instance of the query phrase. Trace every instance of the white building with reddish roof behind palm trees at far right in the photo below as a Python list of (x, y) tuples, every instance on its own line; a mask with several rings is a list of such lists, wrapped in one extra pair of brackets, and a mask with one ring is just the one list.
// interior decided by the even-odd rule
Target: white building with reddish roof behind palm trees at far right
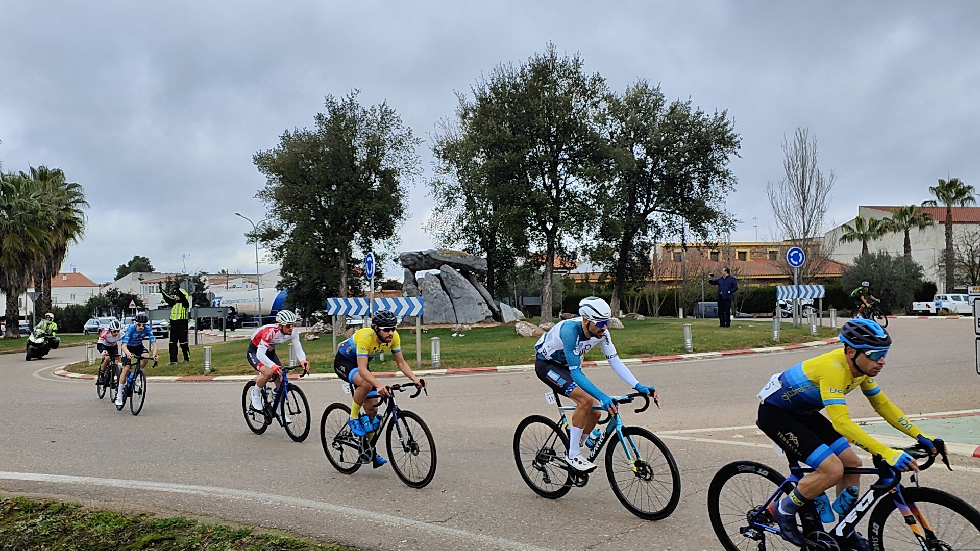
[[(858, 217), (878, 220), (891, 218), (892, 211), (900, 206), (860, 206)], [(912, 229), (908, 237), (912, 245), (912, 260), (922, 266), (925, 278), (936, 283), (938, 292), (947, 292), (946, 267), (943, 262), (946, 253), (946, 207), (920, 207), (932, 215), (935, 225), (927, 229)], [(847, 224), (854, 226), (854, 219)], [(968, 232), (980, 231), (980, 207), (953, 208), (953, 239), (956, 242)], [(845, 264), (850, 264), (861, 252), (860, 241), (842, 243), (843, 225), (827, 231), (823, 235), (824, 249), (832, 251), (828, 256)], [(887, 251), (892, 254), (905, 254), (905, 234), (889, 233), (880, 239), (868, 241), (868, 252)], [(980, 281), (977, 281), (980, 283)], [(952, 290), (952, 289), (950, 289)]]

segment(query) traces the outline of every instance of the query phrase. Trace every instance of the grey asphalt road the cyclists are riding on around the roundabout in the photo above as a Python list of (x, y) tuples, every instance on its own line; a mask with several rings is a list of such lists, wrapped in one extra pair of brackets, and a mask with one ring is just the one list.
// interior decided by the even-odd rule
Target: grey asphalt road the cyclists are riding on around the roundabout
[[(878, 380), (907, 414), (980, 409), (969, 322), (894, 320), (889, 329), (897, 344)], [(345, 476), (326, 461), (319, 416), (331, 402), (349, 403), (336, 381), (299, 382), (313, 428), (297, 444), (277, 425), (261, 436), (247, 429), (241, 383), (151, 381), (138, 417), (118, 412), (108, 397), (96, 399), (92, 381), (52, 375), (83, 359), (84, 348), (29, 364), (0, 356), (0, 491), (208, 515), (365, 549), (718, 549), (705, 504), (711, 476), (737, 459), (784, 465), (752, 427), (756, 393), (773, 373), (828, 350), (632, 368), (660, 389), (662, 409), (624, 419), (662, 434), (682, 475), (680, 506), (657, 523), (628, 513), (602, 470), (555, 501), (524, 484), (515, 427), (557, 413), (532, 373), (432, 377), (428, 397), (400, 396), (438, 448), (435, 479), (416, 490), (390, 466)], [(608, 368), (588, 375), (611, 393), (626, 391)], [(855, 418), (874, 416), (859, 393), (849, 405)], [(963, 443), (980, 444), (980, 417), (957, 419), (960, 439), (972, 434)], [(953, 473), (928, 471), (923, 485), (980, 505), (980, 460), (957, 456), (954, 464)]]

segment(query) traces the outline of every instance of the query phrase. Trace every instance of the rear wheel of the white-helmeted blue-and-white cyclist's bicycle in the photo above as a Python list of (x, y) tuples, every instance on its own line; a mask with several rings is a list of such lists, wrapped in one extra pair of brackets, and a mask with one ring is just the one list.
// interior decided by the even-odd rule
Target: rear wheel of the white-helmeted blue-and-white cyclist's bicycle
[(568, 436), (558, 424), (540, 415), (525, 418), (514, 432), (517, 473), (538, 495), (558, 499), (571, 489), (571, 476), (562, 457)]

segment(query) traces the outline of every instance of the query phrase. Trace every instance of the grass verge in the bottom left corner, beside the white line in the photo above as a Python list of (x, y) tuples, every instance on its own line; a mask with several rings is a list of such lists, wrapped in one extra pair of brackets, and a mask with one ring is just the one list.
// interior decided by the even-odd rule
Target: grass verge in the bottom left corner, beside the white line
[(285, 533), (246, 526), (202, 524), (183, 517), (123, 514), (75, 503), (23, 497), (0, 499), (0, 542), (4, 549), (293, 549), (355, 551)]

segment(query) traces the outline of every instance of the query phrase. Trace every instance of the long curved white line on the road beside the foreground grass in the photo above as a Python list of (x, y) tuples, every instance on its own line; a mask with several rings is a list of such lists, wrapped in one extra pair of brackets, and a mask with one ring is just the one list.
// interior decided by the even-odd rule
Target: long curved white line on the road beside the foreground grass
[(547, 547), (539, 547), (537, 545), (531, 545), (529, 543), (521, 543), (519, 541), (505, 539), (502, 537), (495, 537), (492, 535), (486, 535), (482, 533), (473, 533), (463, 529), (453, 528), (450, 526), (443, 526), (441, 524), (436, 524), (436, 523), (427, 523), (424, 521), (405, 519), (402, 517), (396, 517), (394, 515), (387, 515), (384, 513), (366, 511), (364, 509), (357, 509), (346, 505), (335, 505), (333, 503), (324, 503), (321, 501), (313, 501), (310, 499), (288, 497), (284, 495), (275, 495), (275, 494), (262, 493), (262, 492), (253, 492), (248, 490), (239, 490), (234, 488), (200, 486), (194, 484), (175, 484), (171, 482), (151, 482), (147, 480), (121, 480), (115, 478), (97, 478), (94, 476), (47, 475), (41, 473), (0, 472), (0, 478), (9, 479), (9, 480), (26, 480), (26, 481), (35, 481), (35, 482), (53, 482), (53, 483), (63, 483), (63, 484), (88, 484), (88, 485), (107, 486), (107, 487), (115, 487), (115, 488), (136, 488), (136, 489), (160, 491), (166, 493), (198, 495), (203, 497), (239, 499), (239, 500), (245, 500), (250, 502), (262, 501), (267, 503), (269, 502), (280, 503), (283, 505), (289, 505), (297, 508), (307, 508), (307, 509), (316, 509), (318, 511), (326, 511), (343, 517), (366, 519), (372, 522), (382, 523), (391, 526), (416, 528), (439, 535), (461, 538), (467, 541), (478, 541), (484, 544), (494, 545), (502, 549), (521, 549), (524, 551), (552, 551)]

